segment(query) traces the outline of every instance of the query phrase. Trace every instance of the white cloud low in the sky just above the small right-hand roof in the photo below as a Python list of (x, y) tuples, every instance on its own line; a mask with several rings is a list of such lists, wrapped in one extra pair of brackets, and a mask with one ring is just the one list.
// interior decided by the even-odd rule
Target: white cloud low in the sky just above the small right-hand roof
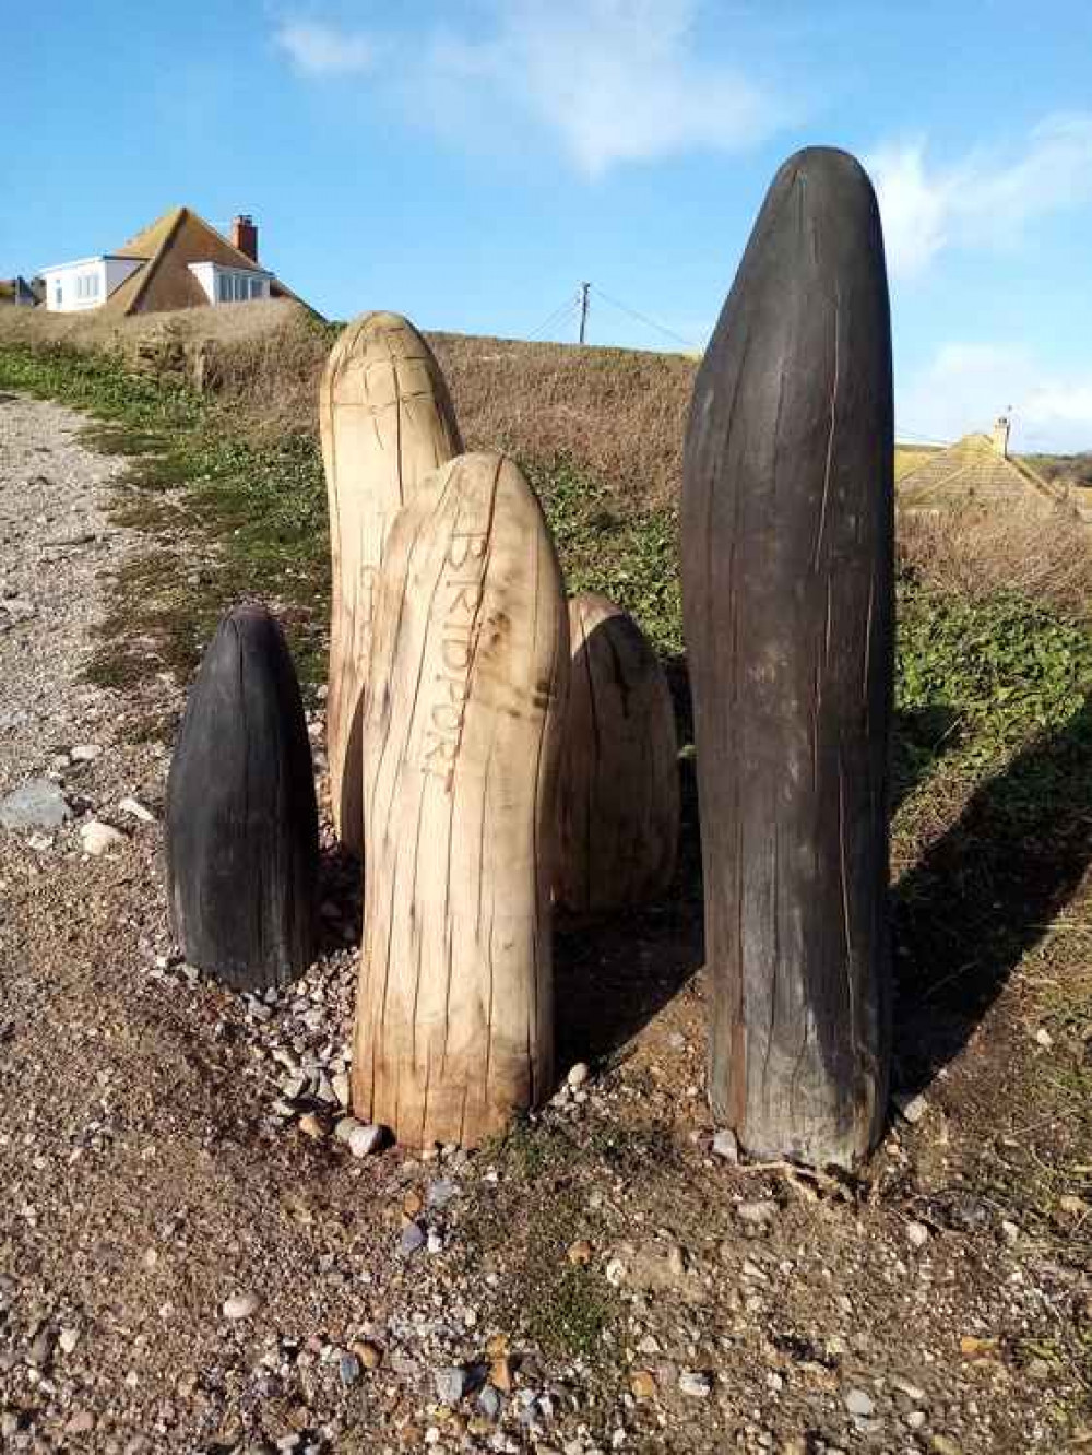
[(1012, 409), (1018, 451), (1092, 448), (1092, 372), (1048, 371), (1018, 343), (945, 343), (899, 390), (896, 434), (935, 439), (989, 432), (996, 415)]

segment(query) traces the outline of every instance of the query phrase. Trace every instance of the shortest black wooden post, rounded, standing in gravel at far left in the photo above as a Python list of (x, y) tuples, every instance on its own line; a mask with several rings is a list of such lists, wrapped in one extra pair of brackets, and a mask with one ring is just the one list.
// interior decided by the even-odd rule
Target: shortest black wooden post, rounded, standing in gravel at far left
[(263, 607), (221, 621), (167, 780), (167, 896), (190, 965), (241, 989), (316, 953), (318, 815), (292, 659)]

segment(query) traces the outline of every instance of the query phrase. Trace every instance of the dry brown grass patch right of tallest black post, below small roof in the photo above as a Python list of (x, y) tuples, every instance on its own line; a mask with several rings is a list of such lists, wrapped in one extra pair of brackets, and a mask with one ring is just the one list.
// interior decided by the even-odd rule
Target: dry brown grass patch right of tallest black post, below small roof
[(1063, 512), (1050, 521), (1012, 511), (904, 512), (896, 540), (900, 565), (941, 591), (977, 601), (1019, 591), (1067, 615), (1092, 610), (1092, 531)]

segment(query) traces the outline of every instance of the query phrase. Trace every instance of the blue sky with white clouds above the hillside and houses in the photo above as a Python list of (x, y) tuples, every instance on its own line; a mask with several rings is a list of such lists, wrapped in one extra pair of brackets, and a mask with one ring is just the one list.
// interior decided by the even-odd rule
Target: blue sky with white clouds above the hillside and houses
[[(1092, 447), (1092, 7), (116, 0), (6, 26), (0, 276), (176, 204), (330, 317), (701, 345), (800, 146), (880, 194), (903, 436)], [(599, 290), (602, 290), (599, 292)], [(570, 307), (566, 307), (570, 306)]]

